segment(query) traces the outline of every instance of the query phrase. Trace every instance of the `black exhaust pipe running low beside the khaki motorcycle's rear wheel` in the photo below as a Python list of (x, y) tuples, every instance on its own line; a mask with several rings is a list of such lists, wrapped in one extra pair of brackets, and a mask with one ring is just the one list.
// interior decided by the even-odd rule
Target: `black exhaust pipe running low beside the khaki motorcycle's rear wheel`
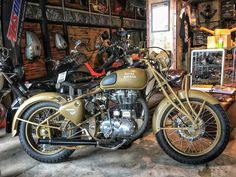
[(78, 140), (78, 139), (38, 139), (38, 144), (60, 145), (60, 146), (82, 146), (82, 145), (94, 145), (98, 143), (94, 140)]

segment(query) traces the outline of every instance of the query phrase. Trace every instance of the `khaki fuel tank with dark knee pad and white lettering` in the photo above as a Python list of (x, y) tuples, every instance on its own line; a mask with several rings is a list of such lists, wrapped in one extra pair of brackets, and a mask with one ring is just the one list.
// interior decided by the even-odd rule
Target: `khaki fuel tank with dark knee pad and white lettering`
[(145, 70), (127, 68), (106, 76), (100, 83), (104, 90), (108, 89), (136, 89), (141, 90), (147, 84), (148, 78)]

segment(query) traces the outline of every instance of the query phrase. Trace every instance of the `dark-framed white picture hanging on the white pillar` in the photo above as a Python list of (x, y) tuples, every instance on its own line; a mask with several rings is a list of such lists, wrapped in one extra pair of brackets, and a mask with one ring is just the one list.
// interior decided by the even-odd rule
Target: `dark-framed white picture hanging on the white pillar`
[(152, 4), (152, 32), (170, 30), (170, 2)]

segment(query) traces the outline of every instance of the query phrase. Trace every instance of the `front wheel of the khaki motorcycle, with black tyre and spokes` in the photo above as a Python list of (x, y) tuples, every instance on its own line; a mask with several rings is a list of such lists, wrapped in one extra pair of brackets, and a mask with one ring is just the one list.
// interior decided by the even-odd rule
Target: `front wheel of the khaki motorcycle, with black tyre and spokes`
[[(187, 107), (187, 101), (183, 101)], [(201, 110), (200, 99), (190, 99), (195, 112)], [(156, 138), (161, 148), (173, 159), (187, 164), (203, 164), (218, 157), (225, 149), (229, 137), (229, 120), (220, 105), (208, 102), (198, 119), (197, 128), (170, 105), (161, 117), (161, 128)]]

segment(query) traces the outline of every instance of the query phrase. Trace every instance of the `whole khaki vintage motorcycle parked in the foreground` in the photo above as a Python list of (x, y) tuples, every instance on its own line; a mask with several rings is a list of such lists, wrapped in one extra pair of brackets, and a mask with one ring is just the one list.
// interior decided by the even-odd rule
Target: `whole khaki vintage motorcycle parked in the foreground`
[(41, 93), (26, 100), (13, 120), (13, 136), (32, 158), (56, 163), (81, 146), (116, 150), (138, 139), (149, 124), (144, 90), (147, 71), (165, 96), (152, 118), (160, 147), (173, 159), (202, 164), (218, 157), (230, 136), (229, 121), (219, 102), (207, 93), (189, 90), (188, 76), (174, 91), (159, 59), (141, 60), (145, 69), (130, 67), (86, 85), (68, 100), (59, 93)]

